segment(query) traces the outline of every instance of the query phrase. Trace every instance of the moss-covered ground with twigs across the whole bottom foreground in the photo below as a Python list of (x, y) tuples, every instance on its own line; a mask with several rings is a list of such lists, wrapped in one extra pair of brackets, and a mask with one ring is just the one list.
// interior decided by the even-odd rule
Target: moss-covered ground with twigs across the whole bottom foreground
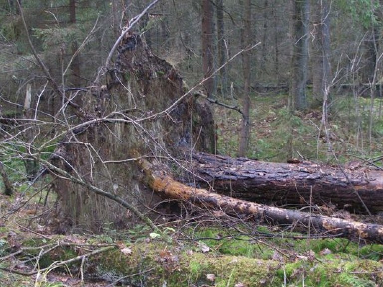
[[(58, 268), (45, 271), (45, 277), (40, 276), (38, 285), (33, 276), (22, 277), (7, 271), (0, 272), (0, 284), (72, 286), (67, 283), (73, 282), (82, 270), (86, 275), (85, 286), (107, 286), (111, 282), (116, 284), (111, 286), (168, 287), (383, 285), (382, 245), (340, 238), (308, 240), (301, 234), (273, 233), (268, 227), (255, 228), (248, 234), (245, 230), (249, 232), (248, 226), (234, 229), (222, 225), (189, 226), (183, 229), (182, 235), (179, 232), (171, 234), (171, 244), (161, 238), (151, 238), (150, 233), (139, 238), (112, 239), (116, 243), (112, 249), (89, 256), (83, 266), (81, 261), (65, 266), (59, 264)], [(262, 238), (267, 233), (273, 237)], [(12, 249), (5, 233), (1, 235), (1, 255), (4, 257)], [(22, 233), (18, 236), (21, 240)], [(50, 237), (48, 240), (34, 236), (22, 242), (23, 247), (42, 246), (42, 249), (58, 241), (72, 243), (70, 247), (57, 248), (42, 257), (38, 265), (41, 270), (55, 262), (83, 255), (87, 249), (101, 248), (104, 243), (84, 235)], [(31, 256), (36, 251), (25, 252), (22, 256)], [(16, 259), (2, 261), (1, 267), (10, 261)], [(99, 285), (92, 285), (95, 282)]]

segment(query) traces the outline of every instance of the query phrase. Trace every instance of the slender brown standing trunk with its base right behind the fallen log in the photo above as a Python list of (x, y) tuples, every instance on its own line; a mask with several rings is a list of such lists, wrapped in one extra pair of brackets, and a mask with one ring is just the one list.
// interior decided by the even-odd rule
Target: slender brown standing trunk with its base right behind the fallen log
[[(251, 44), (251, 0), (245, 0), (243, 4), (244, 18), (242, 42), (244, 49), (249, 48)], [(245, 156), (248, 150), (250, 135), (250, 53), (245, 51), (242, 55), (244, 93), (243, 93), (243, 121), (241, 126), (241, 135), (238, 148), (238, 156)]]

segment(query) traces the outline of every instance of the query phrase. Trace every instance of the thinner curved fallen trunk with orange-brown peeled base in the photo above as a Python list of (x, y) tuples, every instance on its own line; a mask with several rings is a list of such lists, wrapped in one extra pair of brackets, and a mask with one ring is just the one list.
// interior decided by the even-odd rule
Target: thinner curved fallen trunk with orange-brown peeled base
[(311, 226), (312, 230), (324, 231), (328, 235), (383, 242), (383, 226), (348, 221), (322, 215), (266, 206), (229, 196), (193, 188), (174, 180), (162, 171), (153, 169), (151, 163), (139, 159), (138, 165), (145, 174), (145, 183), (156, 193), (167, 198), (189, 201), (193, 204), (222, 210), (228, 214), (247, 216), (269, 224), (291, 224), (297, 227)]

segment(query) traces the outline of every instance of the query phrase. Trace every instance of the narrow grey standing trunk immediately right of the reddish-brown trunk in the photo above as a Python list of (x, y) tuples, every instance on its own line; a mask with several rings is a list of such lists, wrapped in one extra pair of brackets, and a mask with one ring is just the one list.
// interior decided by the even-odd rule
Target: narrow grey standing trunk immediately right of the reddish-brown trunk
[(227, 71), (223, 66), (226, 62), (225, 24), (223, 19), (223, 0), (216, 0), (217, 6), (217, 37), (218, 37), (218, 66), (220, 88), (223, 97), (227, 96)]

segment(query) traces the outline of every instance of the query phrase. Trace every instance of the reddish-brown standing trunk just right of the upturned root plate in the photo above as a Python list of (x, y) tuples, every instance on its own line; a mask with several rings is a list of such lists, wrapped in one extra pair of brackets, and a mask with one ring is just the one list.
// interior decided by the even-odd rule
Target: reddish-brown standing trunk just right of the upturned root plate
[(214, 94), (214, 79), (211, 77), (214, 70), (213, 49), (213, 3), (211, 0), (202, 0), (202, 69), (205, 79), (206, 94), (211, 98)]

